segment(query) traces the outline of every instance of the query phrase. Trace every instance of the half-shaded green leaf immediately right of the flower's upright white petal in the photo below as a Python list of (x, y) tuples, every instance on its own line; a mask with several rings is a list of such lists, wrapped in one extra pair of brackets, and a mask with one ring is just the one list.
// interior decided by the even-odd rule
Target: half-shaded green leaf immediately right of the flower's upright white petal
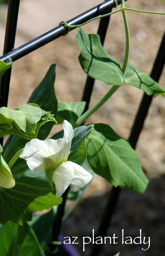
[[(71, 144), (71, 152), (68, 157), (68, 161), (75, 162), (76, 164), (82, 165), (86, 158), (86, 135), (93, 128), (93, 124), (88, 126), (80, 126), (74, 129), (74, 138)], [(63, 138), (63, 131), (53, 135), (51, 139), (57, 140)]]

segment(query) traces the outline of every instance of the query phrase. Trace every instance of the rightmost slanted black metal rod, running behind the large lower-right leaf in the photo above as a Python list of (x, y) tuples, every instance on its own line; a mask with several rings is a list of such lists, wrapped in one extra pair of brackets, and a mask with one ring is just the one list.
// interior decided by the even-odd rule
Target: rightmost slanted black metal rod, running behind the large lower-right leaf
[[(165, 64), (165, 34), (161, 41), (159, 50), (157, 52), (157, 56), (155, 58), (155, 62), (153, 64), (151, 75), (150, 75), (151, 78), (153, 78), (156, 82), (158, 82), (161, 76), (161, 72), (163, 70), (164, 64)], [(141, 100), (141, 104), (139, 106), (137, 116), (134, 121), (134, 125), (130, 133), (130, 137), (128, 139), (132, 148), (135, 148), (138, 142), (139, 134), (143, 128), (143, 123), (147, 116), (147, 112), (151, 104), (151, 100), (152, 100), (152, 96), (148, 96), (147, 94), (144, 93), (143, 98)], [(112, 216), (114, 214), (116, 205), (118, 203), (120, 191), (121, 191), (121, 188), (119, 187), (117, 188), (113, 187), (112, 190), (110, 191), (108, 200), (106, 202), (106, 206), (104, 207), (102, 216), (100, 218), (99, 227), (96, 232), (96, 237), (106, 236), (106, 232), (110, 227), (110, 224), (112, 222)], [(100, 254), (101, 246), (102, 246), (101, 244), (93, 244), (92, 250), (90, 252), (90, 256), (98, 256)]]

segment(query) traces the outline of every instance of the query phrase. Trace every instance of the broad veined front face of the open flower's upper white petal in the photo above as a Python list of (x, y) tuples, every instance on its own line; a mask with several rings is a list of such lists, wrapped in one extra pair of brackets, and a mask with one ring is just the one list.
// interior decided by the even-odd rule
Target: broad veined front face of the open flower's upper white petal
[(54, 170), (60, 163), (67, 161), (70, 148), (71, 143), (64, 139), (32, 139), (26, 144), (20, 158), (26, 160), (30, 170)]

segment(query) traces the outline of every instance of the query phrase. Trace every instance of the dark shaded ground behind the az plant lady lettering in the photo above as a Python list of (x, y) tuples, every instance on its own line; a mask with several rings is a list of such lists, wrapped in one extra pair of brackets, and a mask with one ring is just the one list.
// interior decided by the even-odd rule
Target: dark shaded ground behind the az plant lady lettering
[[(108, 192), (102, 195), (88, 196), (75, 208), (71, 216), (66, 219), (62, 232), (73, 241), (80, 255), (88, 256), (92, 247), (92, 230), (94, 229), (94, 242), (100, 238), (96, 235), (100, 213), (106, 204)], [(154, 178), (144, 194), (136, 194), (130, 190), (122, 190), (120, 198), (112, 218), (110, 228), (106, 235), (116, 239), (106, 239), (104, 236), (100, 256), (114, 256), (120, 251), (120, 256), (164, 256), (165, 255), (165, 177)], [(122, 244), (122, 230), (124, 243)], [(140, 236), (141, 244), (135, 244), (134, 238)], [(83, 237), (90, 237), (91, 242), (84, 246)], [(129, 237), (129, 238), (128, 238)], [(143, 242), (143, 239), (145, 240)], [(132, 238), (132, 244), (131, 239)], [(65, 238), (66, 240), (69, 238)], [(150, 244), (149, 244), (150, 239)], [(126, 242), (128, 240), (128, 242)], [(88, 243), (89, 238), (84, 238)], [(101, 240), (98, 243), (102, 242)], [(114, 244), (114, 242), (116, 244)], [(137, 238), (135, 242), (139, 243)], [(127, 244), (128, 243), (128, 244)], [(146, 243), (146, 244), (144, 244)], [(96, 245), (98, 246), (98, 245)], [(144, 250), (143, 250), (143, 249)]]

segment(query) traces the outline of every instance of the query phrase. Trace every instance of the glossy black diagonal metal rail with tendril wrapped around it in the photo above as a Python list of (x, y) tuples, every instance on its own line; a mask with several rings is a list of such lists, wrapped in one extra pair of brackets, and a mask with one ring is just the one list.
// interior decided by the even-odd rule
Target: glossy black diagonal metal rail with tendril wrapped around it
[[(14, 1), (13, 1), (14, 2)], [(118, 4), (121, 3), (121, 0), (117, 0)], [(69, 25), (79, 25), (82, 24), (91, 18), (100, 16), (106, 12), (106, 10), (110, 10), (115, 7), (114, 0), (107, 0), (103, 2), (102, 4), (99, 4), (90, 10), (84, 12), (83, 14), (80, 14), (79, 16), (69, 20), (67, 24)], [(71, 28), (73, 30), (74, 28)], [(12, 50), (11, 52), (8, 52), (7, 54), (0, 57), (0, 60), (3, 60), (6, 62), (6, 60), (10, 57), (12, 58), (12, 61), (16, 61), (23, 56), (29, 54), (30, 52), (33, 52), (34, 50), (40, 48), (41, 46), (44, 46), (45, 44), (59, 38), (60, 36), (64, 36), (68, 32), (68, 28), (64, 25), (60, 25), (57, 28), (54, 28), (50, 30), (49, 32), (38, 36), (37, 38), (31, 40), (30, 42), (16, 48), (15, 50)]]

